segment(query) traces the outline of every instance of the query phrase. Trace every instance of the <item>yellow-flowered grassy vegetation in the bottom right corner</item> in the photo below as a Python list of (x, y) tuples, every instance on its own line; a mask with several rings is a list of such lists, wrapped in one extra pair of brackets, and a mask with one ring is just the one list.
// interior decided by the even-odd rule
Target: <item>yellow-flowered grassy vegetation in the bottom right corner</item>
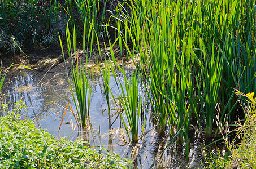
[(248, 103), (245, 110), (246, 120), (238, 124), (237, 136), (241, 137), (239, 144), (227, 143), (227, 151), (214, 150), (205, 153), (205, 168), (255, 168), (256, 165), (256, 99), (254, 92), (246, 95), (239, 92), (244, 102)]

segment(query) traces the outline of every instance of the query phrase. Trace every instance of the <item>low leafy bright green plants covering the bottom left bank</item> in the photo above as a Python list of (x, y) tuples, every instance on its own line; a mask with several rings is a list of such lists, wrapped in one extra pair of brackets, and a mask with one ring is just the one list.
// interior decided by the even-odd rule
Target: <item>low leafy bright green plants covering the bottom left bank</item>
[[(19, 104), (13, 112), (21, 109)], [(93, 150), (81, 140), (56, 140), (31, 121), (20, 121), (13, 115), (0, 120), (0, 168), (129, 168), (131, 165), (127, 159), (102, 147)]]

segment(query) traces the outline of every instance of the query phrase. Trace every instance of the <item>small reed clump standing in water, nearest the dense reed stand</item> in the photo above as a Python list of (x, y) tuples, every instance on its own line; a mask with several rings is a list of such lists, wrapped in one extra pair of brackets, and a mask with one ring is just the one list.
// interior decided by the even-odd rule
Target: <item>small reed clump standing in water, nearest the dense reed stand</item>
[[(118, 39), (121, 39), (120, 35)], [(140, 85), (138, 80), (137, 69), (135, 68), (135, 70), (133, 70), (131, 77), (128, 79), (127, 74), (125, 74), (124, 66), (119, 66), (116, 63), (115, 56), (114, 56), (114, 48), (112, 47), (111, 42), (109, 43), (110, 43), (110, 52), (111, 52), (112, 60), (115, 66), (114, 67), (110, 65), (111, 71), (115, 78), (116, 85), (119, 88), (119, 97), (120, 97), (120, 101), (122, 101), (122, 108), (124, 109), (124, 113), (125, 113), (125, 116), (121, 114), (122, 121), (123, 121), (125, 130), (127, 131), (129, 140), (133, 141), (134, 143), (137, 143), (138, 140), (140, 139), (139, 138), (140, 135), (142, 135), (144, 132), (144, 126), (145, 126), (145, 118), (144, 120), (140, 119), (140, 114), (144, 112), (142, 109), (142, 96), (139, 90)], [(119, 41), (119, 43), (122, 43), (122, 41)], [(120, 46), (122, 45), (120, 44)], [(123, 79), (121, 79), (121, 77), (116, 75), (117, 69), (120, 70), (123, 76)], [(125, 119), (127, 119), (127, 121)], [(139, 128), (140, 126), (141, 126), (141, 130)], [(129, 130), (131, 132), (131, 136), (129, 134)]]

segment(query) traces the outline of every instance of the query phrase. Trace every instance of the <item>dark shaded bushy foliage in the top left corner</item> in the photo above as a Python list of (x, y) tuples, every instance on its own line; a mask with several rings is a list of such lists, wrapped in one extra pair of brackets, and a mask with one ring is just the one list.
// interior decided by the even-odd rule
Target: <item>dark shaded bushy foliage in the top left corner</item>
[[(15, 51), (14, 45), (51, 45), (62, 30), (57, 1), (21, 0), (0, 3), (0, 48)], [(12, 43), (15, 39), (15, 43)]]

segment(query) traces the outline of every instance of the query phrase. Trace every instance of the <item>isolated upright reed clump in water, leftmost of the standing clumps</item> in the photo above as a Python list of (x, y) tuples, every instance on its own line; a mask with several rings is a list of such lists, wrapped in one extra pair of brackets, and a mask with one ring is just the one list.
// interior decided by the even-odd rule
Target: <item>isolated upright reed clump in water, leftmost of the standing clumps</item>
[[(85, 23), (86, 23), (86, 20), (85, 20)], [(93, 72), (92, 74), (89, 74), (88, 60), (90, 60), (90, 56), (92, 55), (91, 49), (92, 49), (93, 43), (92, 41), (90, 41), (90, 39), (93, 39), (94, 32), (93, 32), (93, 27), (90, 26), (89, 35), (86, 36), (86, 26), (84, 26), (83, 56), (79, 56), (79, 54), (76, 51), (76, 31), (75, 30), (76, 29), (74, 28), (73, 29), (73, 52), (72, 52), (72, 41), (71, 41), (70, 29), (68, 28), (68, 26), (67, 26), (66, 38), (67, 38), (67, 47), (68, 47), (68, 57), (71, 63), (72, 79), (73, 79), (73, 85), (76, 91), (76, 97), (72, 89), (68, 71), (67, 71), (67, 77), (68, 77), (68, 82), (70, 84), (70, 89), (71, 89), (73, 100), (76, 106), (76, 110), (77, 110), (77, 113), (79, 114), (79, 123), (80, 123), (80, 126), (84, 128), (86, 127), (87, 120), (89, 117), (90, 100), (91, 100), (91, 94), (92, 94), (91, 81), (93, 77)], [(85, 37), (88, 37), (88, 42), (91, 42), (91, 43), (87, 43), (87, 48), (86, 48), (86, 50), (90, 51), (88, 52), (89, 54), (85, 51), (85, 44), (86, 44)], [(90, 44), (90, 48), (89, 48), (89, 44)], [(61, 39), (60, 39), (60, 46), (62, 47), (62, 54), (64, 57), (66, 70), (68, 70)], [(78, 104), (76, 103), (76, 100)]]

